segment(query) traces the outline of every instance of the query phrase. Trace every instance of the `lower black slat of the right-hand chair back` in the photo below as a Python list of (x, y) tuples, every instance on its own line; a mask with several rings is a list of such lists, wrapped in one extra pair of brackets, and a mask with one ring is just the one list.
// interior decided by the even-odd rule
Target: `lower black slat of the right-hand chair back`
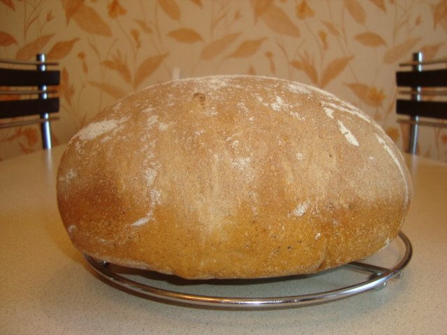
[(434, 119), (447, 119), (447, 101), (396, 101), (396, 112), (411, 117), (432, 117)]

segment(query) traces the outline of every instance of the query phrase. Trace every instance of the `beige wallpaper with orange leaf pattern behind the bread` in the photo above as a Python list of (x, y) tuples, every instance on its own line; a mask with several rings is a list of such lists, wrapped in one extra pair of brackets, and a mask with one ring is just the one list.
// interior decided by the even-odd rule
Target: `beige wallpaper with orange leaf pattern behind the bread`
[[(60, 62), (56, 143), (180, 71), (314, 84), (365, 110), (402, 148), (395, 70), (417, 50), (447, 56), (447, 0), (0, 0), (0, 57)], [(0, 132), (0, 159), (40, 148), (37, 126)], [(423, 128), (419, 153), (447, 161), (446, 128)]]

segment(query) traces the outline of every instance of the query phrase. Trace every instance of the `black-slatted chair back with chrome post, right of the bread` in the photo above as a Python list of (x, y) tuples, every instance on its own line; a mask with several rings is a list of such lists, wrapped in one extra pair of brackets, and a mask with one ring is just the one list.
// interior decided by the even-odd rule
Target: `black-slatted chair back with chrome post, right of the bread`
[(406, 99), (397, 98), (396, 112), (409, 116), (409, 119), (397, 121), (410, 125), (407, 152), (416, 154), (419, 126), (447, 127), (441, 121), (447, 119), (447, 59), (424, 61), (423, 53), (416, 52), (413, 61), (399, 65), (410, 67), (410, 70), (396, 73), (397, 87), (406, 87), (399, 94), (407, 96)]

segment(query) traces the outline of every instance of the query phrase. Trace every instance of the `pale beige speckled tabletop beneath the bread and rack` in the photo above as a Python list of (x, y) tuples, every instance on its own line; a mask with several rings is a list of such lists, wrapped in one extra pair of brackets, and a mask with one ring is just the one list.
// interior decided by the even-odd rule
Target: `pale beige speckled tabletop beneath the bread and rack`
[[(228, 311), (143, 299), (101, 281), (57, 211), (63, 150), (0, 162), (0, 334), (447, 334), (444, 163), (406, 156), (415, 194), (403, 232), (413, 258), (402, 278), (327, 304)], [(265, 285), (235, 290), (282, 284)]]

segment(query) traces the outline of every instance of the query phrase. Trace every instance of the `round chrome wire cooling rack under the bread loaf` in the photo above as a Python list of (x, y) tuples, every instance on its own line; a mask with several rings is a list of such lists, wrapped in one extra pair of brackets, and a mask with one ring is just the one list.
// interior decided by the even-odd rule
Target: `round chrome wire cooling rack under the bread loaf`
[[(413, 248), (400, 232), (389, 246), (362, 262), (314, 275), (265, 279), (191, 281), (176, 276), (120, 267), (85, 255), (107, 283), (146, 299), (214, 308), (288, 308), (335, 301), (371, 289), (381, 289), (400, 278)], [(374, 265), (389, 262), (393, 265)], [(372, 261), (372, 262), (370, 262)]]

